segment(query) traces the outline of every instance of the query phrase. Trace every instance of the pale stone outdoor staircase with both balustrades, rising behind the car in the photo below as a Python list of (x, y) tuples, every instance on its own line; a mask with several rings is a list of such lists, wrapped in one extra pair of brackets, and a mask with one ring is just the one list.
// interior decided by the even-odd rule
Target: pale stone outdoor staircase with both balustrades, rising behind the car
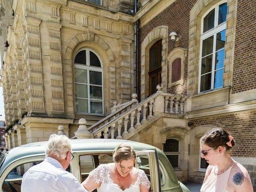
[(120, 105), (114, 102), (112, 113), (89, 128), (86, 127), (86, 120), (80, 119), (75, 137), (128, 140), (161, 117), (184, 118), (188, 98), (164, 93), (161, 85), (157, 86), (157, 90), (140, 103), (136, 94), (132, 94), (130, 102)]

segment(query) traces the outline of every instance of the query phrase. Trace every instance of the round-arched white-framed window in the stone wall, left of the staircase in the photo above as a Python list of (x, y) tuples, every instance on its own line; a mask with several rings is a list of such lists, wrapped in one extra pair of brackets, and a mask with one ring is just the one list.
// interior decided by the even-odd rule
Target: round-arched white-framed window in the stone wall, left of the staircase
[(80, 50), (74, 60), (77, 113), (103, 114), (102, 64), (97, 54)]

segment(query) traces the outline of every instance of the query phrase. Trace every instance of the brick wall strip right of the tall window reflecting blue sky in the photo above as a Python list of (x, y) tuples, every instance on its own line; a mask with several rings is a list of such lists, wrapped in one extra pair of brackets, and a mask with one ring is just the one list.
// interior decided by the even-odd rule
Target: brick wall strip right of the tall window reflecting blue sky
[(256, 87), (255, 13), (255, 0), (238, 0), (232, 93)]

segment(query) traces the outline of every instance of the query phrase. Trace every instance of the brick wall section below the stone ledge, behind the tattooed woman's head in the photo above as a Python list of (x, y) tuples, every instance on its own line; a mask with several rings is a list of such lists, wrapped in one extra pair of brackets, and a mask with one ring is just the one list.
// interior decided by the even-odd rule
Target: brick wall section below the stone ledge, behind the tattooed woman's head
[(256, 110), (191, 119), (193, 126), (213, 125), (230, 132), (236, 141), (232, 156), (256, 156)]

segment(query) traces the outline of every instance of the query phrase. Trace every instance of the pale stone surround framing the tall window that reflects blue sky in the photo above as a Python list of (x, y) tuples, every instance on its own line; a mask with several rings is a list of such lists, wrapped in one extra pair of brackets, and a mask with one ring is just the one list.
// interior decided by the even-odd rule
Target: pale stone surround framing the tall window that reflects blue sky
[[(198, 0), (190, 11), (188, 48), (188, 96), (198, 94), (201, 18), (219, 0)], [(223, 86), (232, 84), (237, 0), (228, 0)], [(228, 46), (227, 46), (228, 45)]]

